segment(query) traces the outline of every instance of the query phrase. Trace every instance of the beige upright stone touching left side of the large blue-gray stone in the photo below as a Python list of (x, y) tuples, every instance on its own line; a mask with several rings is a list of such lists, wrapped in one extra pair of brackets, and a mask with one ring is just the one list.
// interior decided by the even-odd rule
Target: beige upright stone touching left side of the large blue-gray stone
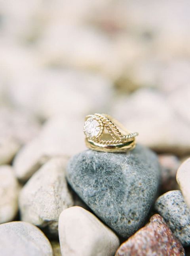
[(63, 158), (54, 158), (43, 165), (25, 184), (19, 196), (21, 219), (58, 235), (61, 211), (73, 205), (65, 180)]

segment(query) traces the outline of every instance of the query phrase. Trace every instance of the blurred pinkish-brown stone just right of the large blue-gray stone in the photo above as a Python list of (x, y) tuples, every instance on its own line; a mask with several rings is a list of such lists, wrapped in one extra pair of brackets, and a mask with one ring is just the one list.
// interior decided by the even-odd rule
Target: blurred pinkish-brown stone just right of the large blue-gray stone
[(158, 155), (161, 166), (161, 193), (169, 190), (179, 189), (176, 181), (177, 169), (180, 166), (180, 161), (175, 155), (161, 154)]

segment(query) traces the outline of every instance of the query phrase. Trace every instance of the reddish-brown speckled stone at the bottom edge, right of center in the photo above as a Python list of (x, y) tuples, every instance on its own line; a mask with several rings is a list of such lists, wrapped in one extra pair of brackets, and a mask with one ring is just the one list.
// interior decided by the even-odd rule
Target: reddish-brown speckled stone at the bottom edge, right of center
[(118, 248), (115, 256), (182, 256), (184, 248), (159, 214)]

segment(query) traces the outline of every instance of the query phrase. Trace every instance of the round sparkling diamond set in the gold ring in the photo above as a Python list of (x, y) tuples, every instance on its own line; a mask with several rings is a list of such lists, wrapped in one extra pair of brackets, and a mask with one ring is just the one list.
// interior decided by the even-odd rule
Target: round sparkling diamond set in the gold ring
[(84, 123), (84, 132), (88, 137), (96, 137), (101, 131), (100, 124), (93, 118), (88, 118)]

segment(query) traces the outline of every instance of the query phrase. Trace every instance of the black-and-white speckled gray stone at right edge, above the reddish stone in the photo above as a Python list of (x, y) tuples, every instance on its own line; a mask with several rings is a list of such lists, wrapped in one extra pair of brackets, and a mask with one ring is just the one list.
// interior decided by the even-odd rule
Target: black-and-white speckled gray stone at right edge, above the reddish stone
[(190, 210), (180, 190), (166, 192), (156, 200), (155, 209), (184, 246), (190, 245)]

